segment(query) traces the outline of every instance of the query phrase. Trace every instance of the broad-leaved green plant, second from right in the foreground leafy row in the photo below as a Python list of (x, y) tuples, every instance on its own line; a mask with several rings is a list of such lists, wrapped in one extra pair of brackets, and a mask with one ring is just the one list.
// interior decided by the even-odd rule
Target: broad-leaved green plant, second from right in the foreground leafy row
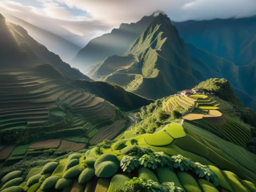
[(180, 168), (181, 171), (183, 170), (192, 170), (195, 167), (194, 162), (190, 161), (188, 158), (183, 157), (182, 155), (174, 155), (171, 157), (174, 162), (174, 168)]

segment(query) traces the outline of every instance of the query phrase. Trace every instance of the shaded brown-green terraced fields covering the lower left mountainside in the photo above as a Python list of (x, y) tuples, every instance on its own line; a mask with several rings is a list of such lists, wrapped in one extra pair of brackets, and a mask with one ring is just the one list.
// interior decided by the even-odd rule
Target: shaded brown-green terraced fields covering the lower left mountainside
[[(115, 107), (104, 99), (33, 71), (0, 73), (0, 105), (0, 135), (6, 144), (56, 135), (89, 143), (101, 127), (119, 121)], [(121, 127), (112, 129), (118, 133)]]

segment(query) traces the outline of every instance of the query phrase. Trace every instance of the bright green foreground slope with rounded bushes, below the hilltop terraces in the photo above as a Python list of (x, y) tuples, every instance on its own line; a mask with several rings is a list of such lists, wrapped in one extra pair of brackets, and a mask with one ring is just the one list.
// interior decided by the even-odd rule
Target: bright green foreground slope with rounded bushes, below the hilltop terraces
[[(9, 173), (3, 177), (2, 182), (6, 182), (10, 175), (15, 181), (17, 180), (16, 183), (8, 184), (9, 191), (15, 188), (12, 186), (20, 184), (23, 186), (21, 191), (40, 189), (39, 191), (43, 192), (58, 189), (68, 192), (120, 192), (122, 191), (120, 187), (124, 188), (125, 184), (129, 183), (132, 185), (133, 182), (139, 183), (140, 179), (144, 179), (143, 182), (146, 183), (150, 183), (149, 179), (152, 179), (160, 184), (159, 187), (174, 185), (187, 192), (256, 190), (255, 154), (199, 127), (189, 126), (187, 123), (185, 125), (184, 129), (181, 125), (171, 123), (160, 132), (136, 136), (127, 141), (121, 150), (112, 150), (113, 147), (106, 149), (94, 147), (85, 154), (70, 154), (59, 162), (47, 163), (40, 168), (40, 173), (36, 168), (31, 169), (25, 182), (23, 179), (16, 179), (22, 174), (19, 171)], [(153, 138), (154, 135), (157, 138)], [(166, 135), (169, 140), (173, 140), (171, 145), (164, 143)], [(147, 139), (153, 145), (144, 141)], [(156, 140), (159, 142), (155, 143)], [(144, 147), (152, 147), (152, 149)], [(130, 156), (131, 152), (140, 157), (136, 160), (138, 163), (134, 162), (133, 166), (127, 163), (127, 159), (133, 157)], [(148, 158), (151, 159), (150, 163)], [(166, 160), (154, 162), (154, 158), (159, 160), (166, 158)], [(45, 174), (43, 182), (39, 182), (42, 180), (42, 175), (39, 174)], [(206, 174), (209, 176), (209, 181)], [(174, 182), (174, 184), (166, 185), (165, 182)]]

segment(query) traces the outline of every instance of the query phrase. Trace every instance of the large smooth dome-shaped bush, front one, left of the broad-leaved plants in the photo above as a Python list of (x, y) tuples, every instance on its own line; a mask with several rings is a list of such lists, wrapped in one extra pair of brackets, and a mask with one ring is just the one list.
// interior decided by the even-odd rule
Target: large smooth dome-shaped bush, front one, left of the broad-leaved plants
[[(97, 162), (95, 162), (96, 164)], [(104, 161), (95, 168), (95, 175), (97, 177), (111, 177), (113, 176), (119, 169), (119, 164), (113, 162), (113, 161)]]

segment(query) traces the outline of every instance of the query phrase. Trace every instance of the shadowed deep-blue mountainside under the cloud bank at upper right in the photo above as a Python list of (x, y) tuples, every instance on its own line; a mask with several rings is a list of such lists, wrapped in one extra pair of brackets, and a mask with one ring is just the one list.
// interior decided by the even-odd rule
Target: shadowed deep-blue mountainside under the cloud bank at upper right
[(172, 23), (187, 43), (237, 66), (256, 58), (256, 17)]

